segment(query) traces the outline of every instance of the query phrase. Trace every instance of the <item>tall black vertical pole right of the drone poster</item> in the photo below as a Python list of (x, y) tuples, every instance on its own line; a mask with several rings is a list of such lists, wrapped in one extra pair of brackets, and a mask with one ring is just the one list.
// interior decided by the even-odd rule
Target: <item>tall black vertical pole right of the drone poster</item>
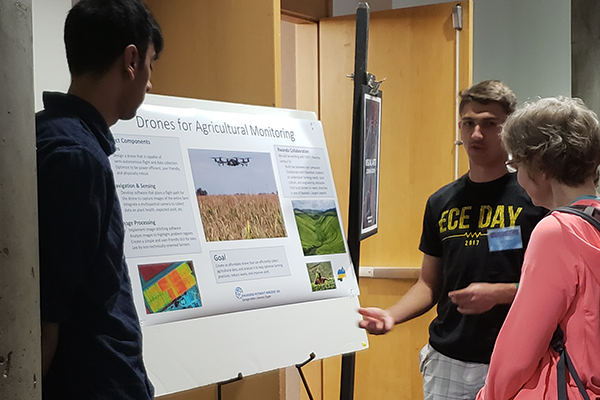
[[(354, 52), (354, 102), (352, 105), (352, 155), (350, 167), (350, 201), (348, 207), (348, 249), (358, 280), (360, 262), (360, 230), (362, 216), (363, 173), (363, 86), (367, 84), (367, 54), (369, 44), (369, 5), (356, 8), (356, 42)], [(354, 399), (354, 367), (356, 355), (342, 355), (340, 400)]]

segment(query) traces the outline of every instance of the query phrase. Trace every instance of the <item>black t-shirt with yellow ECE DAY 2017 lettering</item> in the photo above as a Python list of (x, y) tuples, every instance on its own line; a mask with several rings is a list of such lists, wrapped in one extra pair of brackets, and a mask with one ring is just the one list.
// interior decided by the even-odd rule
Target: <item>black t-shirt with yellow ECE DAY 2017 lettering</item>
[[(430, 344), (440, 353), (462, 361), (489, 363), (494, 342), (510, 305), (497, 305), (478, 315), (458, 312), (448, 292), (473, 282), (518, 282), (531, 231), (546, 210), (535, 207), (516, 174), (486, 183), (468, 175), (452, 182), (427, 201), (419, 249), (441, 258), (442, 292), (437, 317), (429, 326)], [(491, 229), (520, 229), (522, 248), (490, 251)], [(497, 235), (501, 231), (492, 231)], [(507, 234), (518, 235), (510, 230)], [(496, 242), (492, 241), (492, 246)]]

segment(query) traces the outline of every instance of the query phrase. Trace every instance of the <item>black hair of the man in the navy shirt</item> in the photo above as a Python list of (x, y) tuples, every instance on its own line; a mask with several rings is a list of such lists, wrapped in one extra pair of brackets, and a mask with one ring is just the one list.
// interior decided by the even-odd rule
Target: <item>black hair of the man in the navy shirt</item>
[(65, 22), (65, 47), (73, 76), (103, 75), (127, 46), (137, 47), (140, 60), (152, 44), (163, 49), (160, 26), (141, 0), (81, 0)]

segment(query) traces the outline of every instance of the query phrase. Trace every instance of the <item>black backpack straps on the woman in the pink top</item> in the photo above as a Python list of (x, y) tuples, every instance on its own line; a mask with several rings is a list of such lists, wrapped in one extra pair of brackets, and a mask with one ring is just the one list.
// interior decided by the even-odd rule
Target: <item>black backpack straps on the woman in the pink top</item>
[[(599, 232), (600, 232), (600, 210), (596, 207), (586, 206), (586, 205), (573, 205), (568, 207), (559, 207), (554, 211), (569, 213), (579, 215), (581, 218), (588, 221), (592, 224)], [(583, 396), (585, 400), (590, 400), (587, 392), (585, 391), (585, 387), (583, 387), (583, 383), (581, 383), (581, 379), (573, 366), (573, 362), (571, 361), (571, 357), (569, 357), (569, 353), (567, 353), (567, 349), (565, 349), (564, 344), (564, 334), (560, 326), (556, 327), (556, 331), (552, 336), (552, 341), (550, 345), (556, 351), (560, 358), (558, 363), (556, 364), (556, 376), (558, 381), (558, 400), (567, 400), (567, 381), (566, 381), (566, 372), (570, 373), (573, 377), (573, 380), (577, 384), (577, 388), (579, 392)]]

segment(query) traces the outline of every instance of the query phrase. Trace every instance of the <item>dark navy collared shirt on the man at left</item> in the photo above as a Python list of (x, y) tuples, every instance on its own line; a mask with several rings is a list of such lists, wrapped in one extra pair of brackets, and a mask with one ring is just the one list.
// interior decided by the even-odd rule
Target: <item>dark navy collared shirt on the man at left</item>
[(36, 115), (42, 321), (59, 324), (48, 399), (152, 399), (108, 156), (90, 103), (44, 93)]

